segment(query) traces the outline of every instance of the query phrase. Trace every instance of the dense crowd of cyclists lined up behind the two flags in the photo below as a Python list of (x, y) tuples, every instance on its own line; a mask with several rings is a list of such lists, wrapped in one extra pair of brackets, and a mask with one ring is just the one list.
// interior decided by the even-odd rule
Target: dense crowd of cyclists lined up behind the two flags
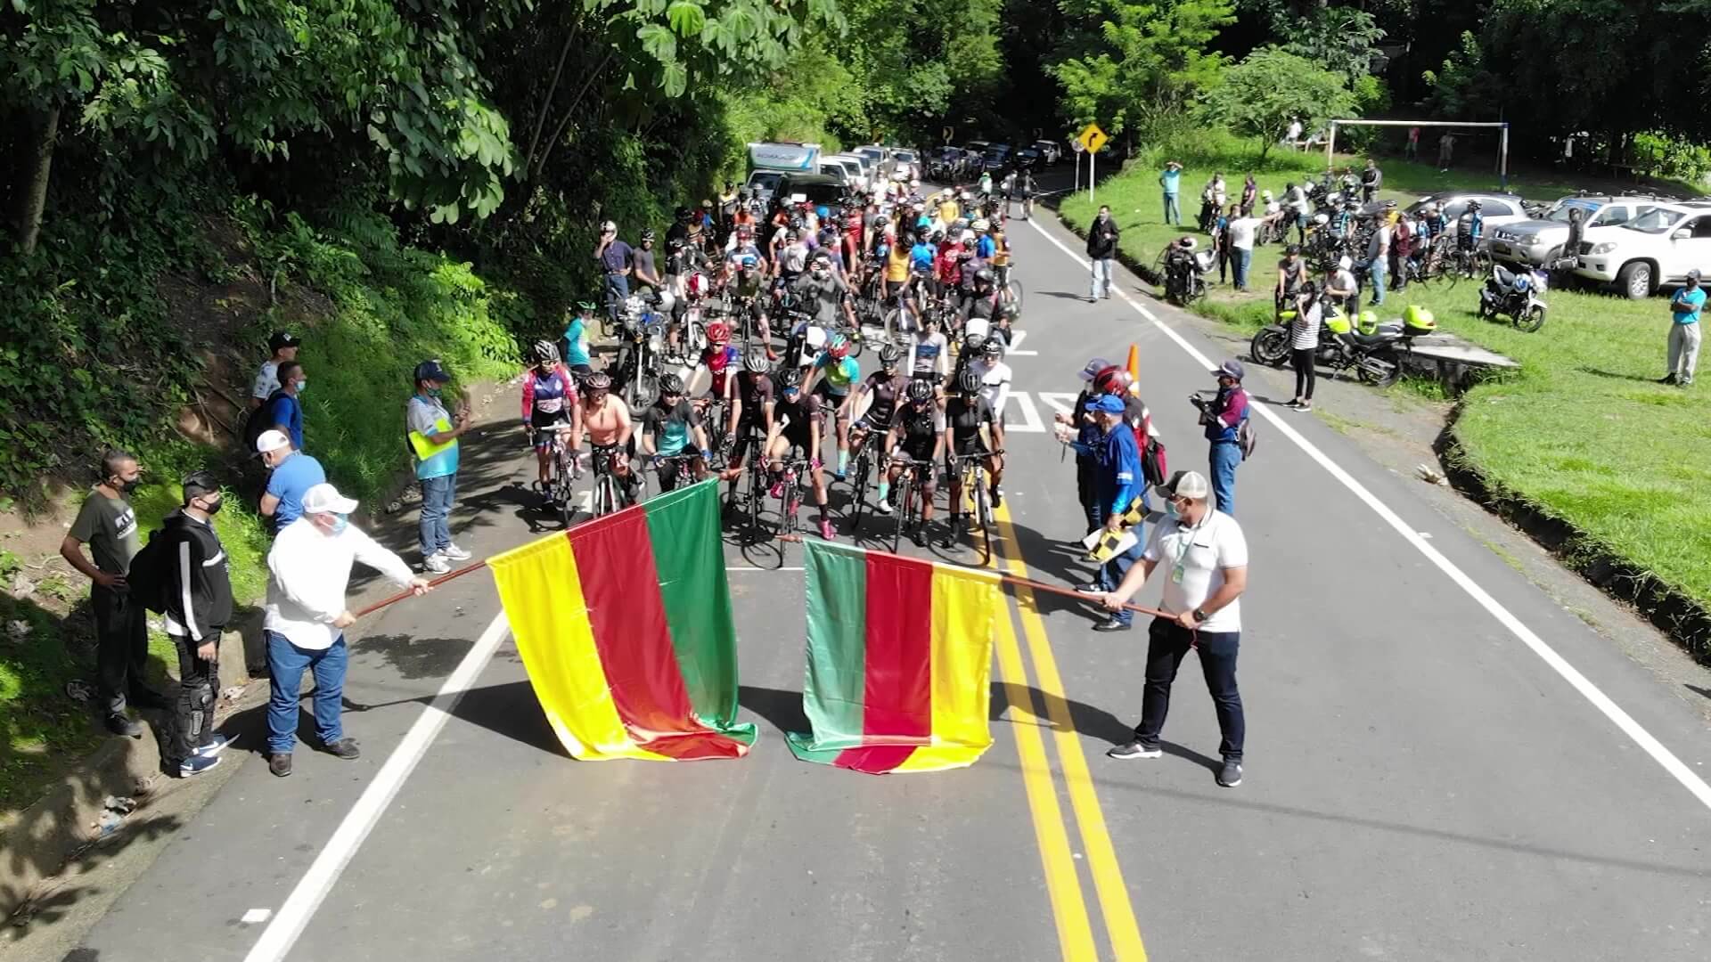
[[(943, 469), (938, 539), (989, 524), (1021, 308), (1004, 224), (1032, 195), (1025, 171), (931, 192), (891, 176), (835, 204), (727, 185), (678, 211), (662, 265), (654, 231), (630, 248), (606, 223), (606, 303), (578, 303), (522, 378), (544, 502), (570, 524), (583, 474), (594, 515), (717, 476), (755, 536), (794, 536), (811, 493), (832, 539), (828, 486), (844, 483), (850, 527), (895, 515), (893, 541), (926, 544)], [(595, 325), (619, 342), (604, 365)]]

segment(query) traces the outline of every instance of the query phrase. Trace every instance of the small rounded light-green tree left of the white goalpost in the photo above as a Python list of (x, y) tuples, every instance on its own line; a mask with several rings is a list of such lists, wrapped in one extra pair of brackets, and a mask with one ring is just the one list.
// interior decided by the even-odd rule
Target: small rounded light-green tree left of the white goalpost
[(1206, 91), (1203, 108), (1208, 120), (1258, 137), (1259, 156), (1264, 157), (1283, 139), (1290, 122), (1299, 120), (1314, 130), (1353, 111), (1355, 96), (1341, 74), (1268, 46), (1225, 70), (1222, 82)]

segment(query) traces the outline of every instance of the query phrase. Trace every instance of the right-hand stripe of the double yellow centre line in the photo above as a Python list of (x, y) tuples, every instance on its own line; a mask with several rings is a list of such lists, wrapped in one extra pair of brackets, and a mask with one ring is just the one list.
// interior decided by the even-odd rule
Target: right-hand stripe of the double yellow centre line
[[(1021, 560), (1016, 541), (1016, 527), (1009, 520), (1009, 505), (992, 510), (998, 531), (1003, 537), (1004, 563), (1009, 573), (1028, 577), (1028, 565)], [(1088, 870), (1093, 873), (1093, 888), (1098, 894), (1098, 909), (1105, 916), (1105, 933), (1110, 936), (1110, 948), (1119, 962), (1145, 962), (1146, 947), (1141, 943), (1141, 928), (1134, 919), (1134, 906), (1129, 902), (1129, 885), (1122, 880), (1122, 866), (1117, 863), (1117, 851), (1110, 842), (1110, 830), (1105, 828), (1105, 813), (1098, 805), (1098, 793), (1093, 791), (1093, 777), (1086, 769), (1086, 755), (1081, 751), (1081, 736), (1069, 716), (1069, 700), (1064, 697), (1064, 683), (1057, 674), (1057, 659), (1052, 656), (1052, 642), (1045, 635), (1045, 621), (1033, 603), (1033, 591), (1016, 587), (1016, 611), (1021, 616), (1021, 633), (1028, 638), (1028, 656), (1033, 659), (1033, 674), (1045, 695), (1045, 714), (1052, 721), (1052, 739), (1057, 745), (1057, 760), (1064, 772), (1064, 787), (1069, 789), (1069, 806), (1075, 810), (1076, 828), (1081, 832), (1081, 847), (1086, 849)]]

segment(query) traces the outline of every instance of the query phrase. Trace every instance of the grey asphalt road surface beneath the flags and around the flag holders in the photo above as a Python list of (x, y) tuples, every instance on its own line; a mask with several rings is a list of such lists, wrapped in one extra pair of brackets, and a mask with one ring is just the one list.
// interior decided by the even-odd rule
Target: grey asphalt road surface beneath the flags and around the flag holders
[[(1140, 344), (1172, 467), (1203, 469), (1186, 397), (1211, 380), (1184, 346), (1213, 347), (1128, 274), (1134, 303), (1092, 305), (1086, 270), (1045, 233), (1016, 223), (1011, 238), (1028, 336), (1011, 358), (1003, 551), (1015, 570), (1071, 584), (1083, 568), (1064, 539), (1081, 520), (1071, 466), (1044, 430), (1054, 401), (1073, 397), (1090, 354)], [(1290, 395), (1273, 371), (1249, 389), (1263, 404)], [(782, 731), (802, 726), (799, 548), (780, 570), (751, 567), (777, 556), (729, 551), (741, 702), (761, 727), (748, 758), (580, 765), (508, 640), (467, 662), (448, 717), (424, 709), (498, 613), (477, 575), (366, 628), (347, 695), (371, 707), (346, 717), (363, 760), (299, 750), (281, 781), (248, 753), (258, 743), (234, 751), (243, 770), (72, 957), (1711, 955), (1711, 810), (1690, 791), (1711, 762), (1704, 722), (1425, 507), (1418, 481), (1312, 416), (1273, 411), (1292, 431), (1261, 418), (1237, 490), (1252, 551), (1239, 789), (1213, 784), (1218, 731), (1193, 664), (1167, 755), (1104, 757), (1136, 721), (1145, 630), (1088, 632), (1093, 613), (1057, 599), (1025, 599), (999, 633), (996, 745), (972, 769), (871, 777), (796, 762)], [(530, 471), (513, 454), (484, 452), (462, 484), (455, 520), (481, 553), (548, 527), (512, 488)], [(419, 722), (419, 765), (387, 765)], [(359, 837), (352, 806), (395, 774), (407, 774), (395, 794), (368, 796), (373, 828)], [(305, 883), (330, 840), (347, 863), (322, 859)], [(277, 914), (294, 888), (317, 895), (296, 902), (313, 911), (294, 941), (272, 919), (243, 921)]]

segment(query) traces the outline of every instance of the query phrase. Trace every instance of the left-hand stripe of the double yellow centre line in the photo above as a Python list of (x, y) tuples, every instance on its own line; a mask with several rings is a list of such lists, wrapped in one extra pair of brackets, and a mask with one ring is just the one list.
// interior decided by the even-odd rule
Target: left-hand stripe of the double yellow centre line
[[(989, 568), (998, 568), (994, 553)], [(1020, 606), (1018, 606), (1020, 608)], [(1069, 830), (1064, 822), (1063, 805), (1057, 801), (1057, 786), (1052, 782), (1051, 760), (1045, 757), (1045, 741), (1040, 727), (1047, 722), (1028, 688), (1028, 674), (1021, 662), (1021, 645), (1016, 642), (1016, 628), (1011, 623), (1009, 603), (1004, 603), (1004, 615), (998, 618), (992, 649), (998, 654), (998, 671), (1004, 680), (1004, 700), (1009, 710), (1018, 716), (1011, 729), (1016, 733), (1016, 757), (1021, 762), (1021, 784), (1028, 796), (1028, 815), (1033, 818), (1033, 839), (1040, 847), (1040, 866), (1045, 870), (1045, 894), (1052, 904), (1052, 921), (1057, 924), (1057, 947), (1064, 962), (1093, 962), (1098, 948), (1093, 945), (1093, 923), (1086, 912), (1086, 897), (1081, 894), (1081, 875), (1075, 861), (1080, 856), (1069, 852)]]

